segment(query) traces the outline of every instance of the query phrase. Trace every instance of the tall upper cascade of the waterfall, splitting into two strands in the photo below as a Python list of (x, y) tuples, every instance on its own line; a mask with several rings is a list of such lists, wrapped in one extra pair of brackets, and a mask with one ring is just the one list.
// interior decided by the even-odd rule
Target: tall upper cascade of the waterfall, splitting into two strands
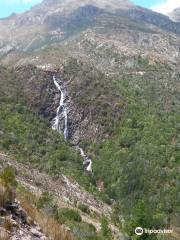
[(61, 129), (61, 126), (60, 126), (60, 117), (61, 117), (61, 114), (63, 114), (63, 118), (64, 118), (63, 134), (64, 134), (64, 138), (67, 139), (67, 137), (68, 137), (68, 116), (67, 116), (67, 107), (66, 107), (66, 104), (64, 102), (65, 94), (64, 94), (64, 91), (61, 88), (60, 84), (57, 82), (55, 76), (53, 76), (53, 82), (54, 82), (56, 88), (58, 89), (58, 91), (60, 92), (61, 97), (60, 97), (59, 106), (58, 106), (57, 111), (56, 111), (56, 117), (53, 119), (52, 129), (58, 131), (59, 133), (62, 132), (62, 129)]

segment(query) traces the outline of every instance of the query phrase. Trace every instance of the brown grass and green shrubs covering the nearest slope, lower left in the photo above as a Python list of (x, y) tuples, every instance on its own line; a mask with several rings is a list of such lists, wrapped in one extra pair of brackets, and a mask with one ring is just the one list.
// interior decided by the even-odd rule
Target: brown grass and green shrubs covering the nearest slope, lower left
[[(24, 216), (28, 216), (28, 224), (37, 222), (43, 233), (54, 240), (111, 240), (112, 235), (106, 218), (102, 218), (101, 232), (97, 234), (93, 225), (82, 221), (79, 212), (70, 208), (59, 208), (53, 197), (44, 192), (37, 197), (27, 189), (17, 184), (15, 170), (12, 167), (5, 168), (0, 174), (0, 207), (14, 204), (15, 198), (23, 208)], [(7, 231), (16, 233), (14, 223), (5, 217), (2, 221)], [(66, 227), (65, 227), (66, 226)], [(70, 230), (67, 230), (67, 227)], [(8, 234), (2, 236), (8, 239)]]

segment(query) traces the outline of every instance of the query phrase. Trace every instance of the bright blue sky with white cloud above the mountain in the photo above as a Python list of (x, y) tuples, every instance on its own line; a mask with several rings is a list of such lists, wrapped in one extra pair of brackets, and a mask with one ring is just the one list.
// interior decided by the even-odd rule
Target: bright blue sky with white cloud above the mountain
[[(136, 5), (150, 8), (154, 11), (166, 14), (180, 7), (180, 0), (131, 0)], [(42, 0), (0, 0), (0, 18), (12, 13), (22, 13)]]

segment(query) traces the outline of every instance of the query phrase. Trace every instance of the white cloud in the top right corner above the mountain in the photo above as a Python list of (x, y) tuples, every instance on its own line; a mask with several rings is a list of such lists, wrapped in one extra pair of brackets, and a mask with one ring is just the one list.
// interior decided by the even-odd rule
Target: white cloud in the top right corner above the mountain
[(155, 12), (167, 14), (178, 7), (180, 7), (180, 0), (166, 0), (164, 3), (152, 6), (151, 9)]

